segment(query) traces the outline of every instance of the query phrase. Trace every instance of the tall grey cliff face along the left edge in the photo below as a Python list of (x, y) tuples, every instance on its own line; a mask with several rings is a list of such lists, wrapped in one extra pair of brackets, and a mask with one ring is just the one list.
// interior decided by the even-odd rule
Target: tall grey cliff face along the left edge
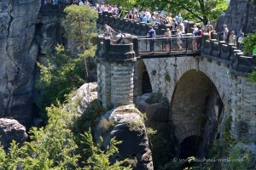
[(29, 124), (33, 71), (38, 45), (33, 41), (40, 0), (0, 3), (0, 117)]

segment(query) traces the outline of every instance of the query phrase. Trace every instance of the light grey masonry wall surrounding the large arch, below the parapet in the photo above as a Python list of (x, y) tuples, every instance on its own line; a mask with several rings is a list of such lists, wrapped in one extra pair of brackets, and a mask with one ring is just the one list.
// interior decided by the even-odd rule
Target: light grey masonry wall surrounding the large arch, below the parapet
[[(173, 94), (177, 88), (177, 83), (183, 74), (195, 69), (202, 71), (212, 81), (218, 90), (223, 103), (224, 114), (232, 115), (231, 133), (236, 139), (247, 138), (256, 141), (256, 84), (248, 83), (246, 75), (236, 75), (230, 72), (230, 65), (220, 62), (218, 59), (208, 59), (207, 57), (177, 57), (161, 59), (143, 59), (150, 77), (154, 92), (165, 94), (170, 104)], [(152, 71), (156, 73), (151, 74)], [(165, 75), (171, 77), (171, 81), (165, 80)], [(194, 102), (194, 101), (191, 101)], [(172, 107), (172, 105), (171, 105)], [(174, 121), (172, 111), (169, 120)], [(192, 132), (192, 131), (191, 131)], [(178, 139), (186, 136), (179, 136), (181, 133), (176, 131)], [(190, 135), (197, 135), (187, 133)]]

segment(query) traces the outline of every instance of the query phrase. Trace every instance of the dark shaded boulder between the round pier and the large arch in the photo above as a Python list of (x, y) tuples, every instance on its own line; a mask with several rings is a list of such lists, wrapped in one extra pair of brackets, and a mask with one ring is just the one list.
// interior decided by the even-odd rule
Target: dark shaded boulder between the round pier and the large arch
[(137, 108), (147, 114), (150, 122), (168, 121), (168, 100), (163, 98), (161, 94), (143, 94), (137, 97)]

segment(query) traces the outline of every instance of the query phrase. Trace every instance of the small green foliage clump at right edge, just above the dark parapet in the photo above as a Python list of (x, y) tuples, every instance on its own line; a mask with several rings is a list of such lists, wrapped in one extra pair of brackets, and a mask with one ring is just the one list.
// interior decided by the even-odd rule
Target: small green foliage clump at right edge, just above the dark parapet
[(242, 42), (244, 43), (243, 53), (253, 54), (253, 48), (256, 45), (256, 30), (253, 33), (248, 33), (247, 37), (244, 37)]

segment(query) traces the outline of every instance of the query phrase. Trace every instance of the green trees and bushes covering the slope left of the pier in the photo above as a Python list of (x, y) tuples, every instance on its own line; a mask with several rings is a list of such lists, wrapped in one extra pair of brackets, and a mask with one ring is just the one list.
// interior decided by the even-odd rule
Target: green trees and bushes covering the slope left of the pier
[(67, 18), (63, 23), (67, 37), (72, 38), (72, 47), (65, 49), (57, 45), (55, 54), (48, 58), (48, 65), (38, 64), (41, 73), (38, 88), (43, 90), (39, 103), (48, 116), (47, 125), (32, 127), (30, 141), (22, 146), (13, 141), (8, 152), (0, 143), (0, 170), (131, 169), (122, 166), (124, 161), (110, 161), (110, 157), (118, 153), (116, 145), (121, 142), (111, 139), (108, 149), (102, 150), (102, 140), (98, 144), (93, 141), (90, 128), (94, 127), (96, 118), (106, 112), (102, 105), (93, 101), (78, 116), (79, 102), (71, 102), (71, 91), (86, 81), (86, 57), (95, 53), (90, 40), (97, 14), (90, 7), (77, 5), (67, 7), (65, 12)]

